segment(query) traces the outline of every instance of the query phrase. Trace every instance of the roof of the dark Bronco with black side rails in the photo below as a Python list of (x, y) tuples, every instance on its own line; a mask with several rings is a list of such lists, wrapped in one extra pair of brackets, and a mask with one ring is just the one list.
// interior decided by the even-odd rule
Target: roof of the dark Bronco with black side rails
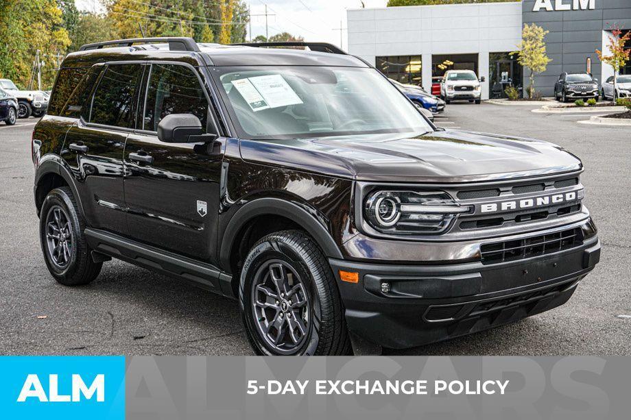
[(126, 60), (184, 61), (206, 66), (353, 66), (368, 67), (353, 55), (304, 49), (197, 44), (199, 51), (172, 51), (167, 43), (101, 47), (70, 53), (62, 66), (92, 66)]

